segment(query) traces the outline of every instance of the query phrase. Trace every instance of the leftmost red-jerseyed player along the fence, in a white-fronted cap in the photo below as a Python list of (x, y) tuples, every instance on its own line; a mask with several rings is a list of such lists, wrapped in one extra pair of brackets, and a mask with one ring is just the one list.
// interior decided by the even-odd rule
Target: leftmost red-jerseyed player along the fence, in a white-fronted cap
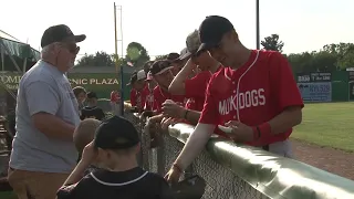
[(132, 106), (135, 106), (139, 113), (143, 112), (147, 95), (145, 80), (146, 74), (144, 70), (140, 70), (137, 73), (133, 73), (129, 83), (132, 85), (131, 104)]

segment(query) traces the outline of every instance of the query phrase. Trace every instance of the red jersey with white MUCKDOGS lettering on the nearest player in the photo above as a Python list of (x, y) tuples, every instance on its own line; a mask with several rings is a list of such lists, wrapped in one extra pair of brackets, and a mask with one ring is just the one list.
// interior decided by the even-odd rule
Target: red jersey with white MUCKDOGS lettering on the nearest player
[[(239, 121), (258, 126), (288, 106), (303, 107), (289, 62), (279, 52), (252, 51), (248, 62), (238, 70), (223, 67), (212, 75), (199, 123), (223, 125)], [(285, 140), (291, 132), (292, 128), (264, 138), (262, 145)]]

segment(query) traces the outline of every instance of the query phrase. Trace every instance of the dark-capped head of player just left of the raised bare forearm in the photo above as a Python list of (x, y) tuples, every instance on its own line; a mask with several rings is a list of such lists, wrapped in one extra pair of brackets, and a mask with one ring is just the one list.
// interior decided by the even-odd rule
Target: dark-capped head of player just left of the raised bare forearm
[(168, 88), (169, 84), (173, 82), (175, 77), (170, 71), (173, 67), (170, 62), (166, 60), (159, 60), (153, 63), (150, 72), (160, 87)]

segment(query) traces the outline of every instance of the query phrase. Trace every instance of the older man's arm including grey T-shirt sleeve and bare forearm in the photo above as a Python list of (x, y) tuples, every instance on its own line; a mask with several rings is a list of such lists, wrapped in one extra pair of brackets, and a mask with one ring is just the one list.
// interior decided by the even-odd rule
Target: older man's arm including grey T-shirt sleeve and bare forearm
[(61, 101), (58, 92), (48, 83), (40, 81), (31, 83), (24, 90), (35, 128), (49, 137), (72, 140), (75, 126), (55, 116)]

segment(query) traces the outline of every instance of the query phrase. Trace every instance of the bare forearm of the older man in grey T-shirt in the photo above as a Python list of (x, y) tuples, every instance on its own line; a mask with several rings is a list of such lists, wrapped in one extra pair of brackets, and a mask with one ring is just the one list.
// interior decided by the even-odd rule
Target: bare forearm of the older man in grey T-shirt
[(73, 140), (75, 126), (63, 119), (46, 113), (38, 113), (32, 116), (33, 124), (41, 133), (48, 137), (62, 140)]

